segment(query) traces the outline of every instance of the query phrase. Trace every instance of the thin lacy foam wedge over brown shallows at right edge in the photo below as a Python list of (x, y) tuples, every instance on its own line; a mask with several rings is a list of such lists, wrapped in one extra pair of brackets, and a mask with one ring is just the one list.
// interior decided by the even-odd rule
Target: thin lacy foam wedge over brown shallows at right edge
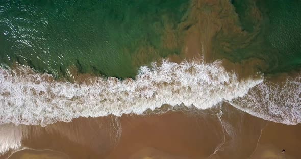
[(264, 80), (230, 103), (249, 114), (288, 125), (301, 122), (301, 77), (283, 83)]

